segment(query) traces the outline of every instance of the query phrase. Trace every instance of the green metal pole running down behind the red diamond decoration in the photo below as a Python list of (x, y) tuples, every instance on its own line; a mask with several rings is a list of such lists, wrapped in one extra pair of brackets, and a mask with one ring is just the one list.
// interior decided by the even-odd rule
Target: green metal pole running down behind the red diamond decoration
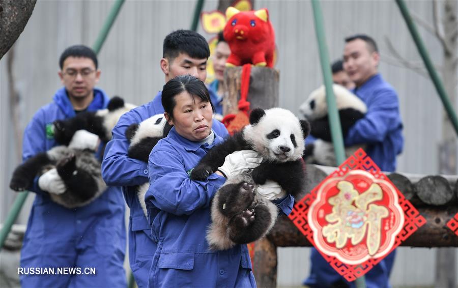
[[(332, 73), (331, 66), (329, 64), (328, 46), (326, 45), (325, 29), (323, 24), (323, 13), (321, 12), (319, 0), (312, 0), (311, 4), (313, 8), (315, 32), (317, 34), (318, 47), (320, 50), (321, 68), (323, 70), (323, 78), (326, 88), (326, 102), (328, 104), (328, 115), (331, 125), (330, 128), (332, 143), (334, 146), (334, 153), (337, 165), (340, 165), (345, 161), (344, 138), (342, 137), (340, 118), (337, 113), (337, 105), (334, 97), (334, 91), (332, 90)], [(357, 278), (355, 280), (355, 284), (357, 288), (364, 288), (366, 286), (364, 276)]]

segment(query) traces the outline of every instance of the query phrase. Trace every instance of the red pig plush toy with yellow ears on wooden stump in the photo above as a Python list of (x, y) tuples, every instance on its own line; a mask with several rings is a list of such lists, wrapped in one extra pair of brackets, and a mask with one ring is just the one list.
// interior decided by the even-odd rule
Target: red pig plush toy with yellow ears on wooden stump
[(224, 40), (231, 47), (226, 66), (273, 67), (275, 35), (267, 9), (240, 12), (234, 7), (226, 10)]

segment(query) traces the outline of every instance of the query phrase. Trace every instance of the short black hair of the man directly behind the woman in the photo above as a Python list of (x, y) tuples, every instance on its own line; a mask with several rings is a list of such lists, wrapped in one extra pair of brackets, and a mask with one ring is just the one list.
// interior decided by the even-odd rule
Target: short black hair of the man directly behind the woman
[(170, 61), (180, 53), (195, 59), (207, 59), (210, 48), (202, 35), (191, 30), (177, 30), (165, 37), (162, 57)]

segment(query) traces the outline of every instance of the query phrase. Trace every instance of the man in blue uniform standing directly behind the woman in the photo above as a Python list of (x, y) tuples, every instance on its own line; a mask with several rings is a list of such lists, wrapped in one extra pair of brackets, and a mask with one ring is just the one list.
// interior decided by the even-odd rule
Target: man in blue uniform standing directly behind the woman
[[(187, 30), (170, 33), (164, 39), (163, 58), (160, 61), (165, 82), (184, 74), (205, 81), (209, 56), (208, 43), (201, 35)], [(129, 142), (124, 133), (129, 125), (162, 113), (164, 108), (159, 92), (153, 101), (124, 114), (112, 131), (113, 137), (105, 149), (102, 163), (102, 177), (106, 184), (117, 186), (113, 189), (120, 192), (122, 190), (130, 207), (129, 262), (138, 287), (146, 287), (148, 284), (148, 272), (157, 246), (151, 238), (151, 228), (134, 187), (148, 182), (148, 163), (127, 156)], [(213, 129), (221, 137), (228, 135), (219, 121), (213, 120)]]

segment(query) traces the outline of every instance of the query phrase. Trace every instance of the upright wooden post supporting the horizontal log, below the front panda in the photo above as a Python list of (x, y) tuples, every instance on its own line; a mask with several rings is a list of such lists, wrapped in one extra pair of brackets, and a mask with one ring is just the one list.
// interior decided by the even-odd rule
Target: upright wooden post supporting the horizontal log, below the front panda
[(258, 287), (275, 287), (277, 284), (277, 248), (267, 238), (254, 244), (253, 274)]

